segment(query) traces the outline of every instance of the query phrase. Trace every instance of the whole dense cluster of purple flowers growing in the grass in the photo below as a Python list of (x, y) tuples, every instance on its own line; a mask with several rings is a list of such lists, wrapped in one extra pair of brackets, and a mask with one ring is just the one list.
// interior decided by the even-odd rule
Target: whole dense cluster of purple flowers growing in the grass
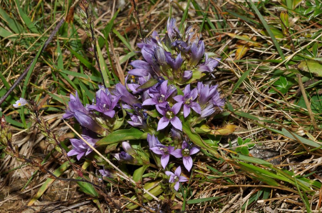
[[(159, 177), (168, 178), (178, 190), (179, 182), (187, 181), (184, 174), (191, 171), (193, 157), (200, 151), (185, 134), (187, 125), (183, 123), (188, 122), (189, 129), (204, 126), (203, 121), (225, 104), (218, 86), (212, 84), (212, 73), (220, 59), (205, 53), (201, 38), (196, 26), (184, 24), (179, 30), (175, 19), (169, 19), (165, 34), (153, 32), (137, 44), (142, 60), (130, 63), (133, 69), (125, 85), (100, 86), (93, 103), (86, 106), (76, 92), (70, 96), (63, 118), (74, 117), (90, 134), (82, 137), (94, 148), (105, 146), (105, 152), (111, 152), (109, 156), (119, 164), (155, 163), (163, 168), (164, 175)], [(132, 135), (133, 129), (142, 132), (142, 136)], [(99, 141), (118, 130), (123, 132), (116, 142), (122, 142), (122, 147)], [(92, 149), (84, 141), (71, 139), (71, 144), (69, 156), (90, 158)], [(183, 173), (178, 164), (184, 166)], [(173, 165), (177, 165), (174, 173), (170, 171)], [(112, 177), (107, 167), (100, 173)]]

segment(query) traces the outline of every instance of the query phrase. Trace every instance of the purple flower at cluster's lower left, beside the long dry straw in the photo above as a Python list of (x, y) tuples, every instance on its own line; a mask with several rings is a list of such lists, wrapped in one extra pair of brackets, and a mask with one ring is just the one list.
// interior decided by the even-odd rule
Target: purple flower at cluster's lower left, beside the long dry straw
[[(94, 148), (96, 147), (95, 143), (99, 141), (99, 139), (93, 139), (86, 135), (81, 135), (90, 145), (92, 145)], [(87, 145), (83, 140), (80, 139), (69, 139), (71, 141), (71, 145), (73, 145), (73, 149), (71, 149), (67, 156), (73, 156), (77, 155), (77, 160), (80, 160), (83, 155), (90, 154), (93, 149), (90, 148), (89, 145)]]

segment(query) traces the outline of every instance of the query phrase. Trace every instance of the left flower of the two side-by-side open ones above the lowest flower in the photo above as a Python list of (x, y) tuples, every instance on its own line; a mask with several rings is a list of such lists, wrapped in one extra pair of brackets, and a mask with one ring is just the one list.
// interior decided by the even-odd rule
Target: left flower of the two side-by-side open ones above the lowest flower
[(157, 143), (154, 147), (150, 148), (154, 153), (161, 155), (161, 165), (166, 168), (169, 162), (170, 155), (176, 158), (181, 156), (181, 149), (175, 149), (173, 146), (165, 146), (163, 144)]

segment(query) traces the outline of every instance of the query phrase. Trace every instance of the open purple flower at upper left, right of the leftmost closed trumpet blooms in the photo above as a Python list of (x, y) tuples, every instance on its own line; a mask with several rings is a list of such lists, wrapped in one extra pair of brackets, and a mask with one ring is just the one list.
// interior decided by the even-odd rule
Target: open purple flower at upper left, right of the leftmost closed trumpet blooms
[(96, 105), (90, 105), (88, 108), (101, 112), (112, 118), (115, 115), (115, 111), (113, 109), (119, 99), (120, 96), (112, 96), (109, 92), (106, 93), (104, 90), (100, 90), (99, 94), (96, 94)]

